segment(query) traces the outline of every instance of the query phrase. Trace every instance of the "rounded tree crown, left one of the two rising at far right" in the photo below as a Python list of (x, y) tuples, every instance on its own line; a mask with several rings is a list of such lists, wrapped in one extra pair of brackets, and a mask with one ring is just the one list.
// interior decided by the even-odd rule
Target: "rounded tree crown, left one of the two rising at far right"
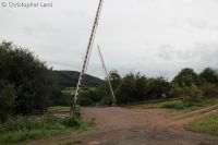
[(172, 80), (172, 84), (181, 87), (191, 87), (192, 84), (199, 85), (201, 80), (193, 69), (185, 68)]

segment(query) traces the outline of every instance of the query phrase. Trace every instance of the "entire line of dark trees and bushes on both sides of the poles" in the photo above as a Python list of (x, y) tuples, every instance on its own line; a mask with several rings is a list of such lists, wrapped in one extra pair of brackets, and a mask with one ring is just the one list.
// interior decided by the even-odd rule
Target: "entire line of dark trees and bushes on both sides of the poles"
[[(218, 72), (207, 68), (199, 74), (193, 69), (181, 70), (172, 80), (147, 77), (141, 73), (121, 76), (110, 72), (118, 105), (162, 98), (197, 101), (202, 97), (218, 96)], [(69, 106), (71, 96), (61, 92), (52, 68), (29, 50), (12, 43), (0, 44), (0, 122), (10, 116), (44, 113), (49, 106)], [(111, 105), (108, 82), (81, 92), (80, 105)]]

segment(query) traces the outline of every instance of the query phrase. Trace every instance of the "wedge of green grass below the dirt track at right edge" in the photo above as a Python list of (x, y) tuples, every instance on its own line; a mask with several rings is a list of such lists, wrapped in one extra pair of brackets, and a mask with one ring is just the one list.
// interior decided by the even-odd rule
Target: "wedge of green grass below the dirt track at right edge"
[(218, 135), (218, 113), (191, 122), (186, 125), (186, 129), (194, 132)]

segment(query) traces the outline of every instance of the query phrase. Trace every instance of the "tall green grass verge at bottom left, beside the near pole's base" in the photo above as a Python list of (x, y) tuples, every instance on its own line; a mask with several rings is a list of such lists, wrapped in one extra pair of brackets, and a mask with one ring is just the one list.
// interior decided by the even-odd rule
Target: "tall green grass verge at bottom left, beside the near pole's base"
[(89, 123), (82, 122), (81, 117), (58, 120), (53, 116), (17, 117), (0, 124), (0, 144), (22, 144), (32, 140), (48, 138), (72, 131), (86, 131)]

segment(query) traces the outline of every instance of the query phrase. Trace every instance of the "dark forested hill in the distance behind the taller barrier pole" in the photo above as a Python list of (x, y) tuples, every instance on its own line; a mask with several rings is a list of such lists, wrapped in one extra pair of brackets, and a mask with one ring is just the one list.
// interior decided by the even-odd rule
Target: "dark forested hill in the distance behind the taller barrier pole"
[[(76, 87), (80, 72), (76, 71), (53, 71), (59, 78), (59, 87)], [(85, 75), (85, 86), (87, 87), (97, 87), (102, 83), (102, 80), (88, 75)]]

